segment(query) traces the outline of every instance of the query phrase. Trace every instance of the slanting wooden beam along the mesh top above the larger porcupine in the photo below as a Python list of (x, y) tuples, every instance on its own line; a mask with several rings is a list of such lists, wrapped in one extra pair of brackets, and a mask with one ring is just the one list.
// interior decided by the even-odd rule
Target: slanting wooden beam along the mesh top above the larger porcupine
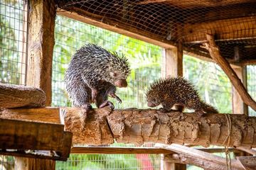
[[(71, 12), (72, 11), (72, 12)], [(75, 12), (80, 11), (80, 13)], [(119, 33), (122, 35), (127, 35), (130, 38), (135, 38), (137, 40), (142, 40), (144, 42), (149, 42), (154, 45), (158, 45), (164, 48), (174, 48), (174, 43), (167, 40), (161, 40), (159, 37), (151, 35), (149, 33), (143, 32), (142, 30), (138, 30), (136, 28), (128, 28), (128, 26), (122, 26), (121, 23), (113, 23), (113, 21), (107, 21), (107, 23), (103, 23), (97, 21), (94, 18), (90, 18), (88, 16), (93, 16), (92, 13), (85, 13), (86, 11), (79, 10), (78, 8), (73, 7), (70, 11), (65, 11), (63, 9), (58, 8), (57, 14), (60, 16), (65, 16), (68, 18), (72, 18), (76, 21), (80, 21), (82, 23), (88, 23), (92, 26), (97, 26), (100, 28), (104, 28), (106, 30), (113, 31), (115, 33)]]

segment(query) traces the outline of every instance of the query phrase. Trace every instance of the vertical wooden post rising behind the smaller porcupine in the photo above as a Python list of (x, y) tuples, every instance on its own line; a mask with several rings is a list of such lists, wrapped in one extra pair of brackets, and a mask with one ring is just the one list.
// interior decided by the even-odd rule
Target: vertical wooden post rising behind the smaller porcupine
[[(166, 77), (183, 76), (183, 46), (178, 42), (177, 47), (165, 50), (164, 69)], [(163, 156), (164, 157), (164, 156)], [(185, 170), (186, 164), (176, 164), (162, 159), (164, 170)]]

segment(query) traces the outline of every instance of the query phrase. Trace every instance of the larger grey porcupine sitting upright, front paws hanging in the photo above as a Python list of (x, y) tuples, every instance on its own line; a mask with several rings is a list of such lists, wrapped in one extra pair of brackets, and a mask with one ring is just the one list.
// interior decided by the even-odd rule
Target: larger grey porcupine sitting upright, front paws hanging
[(73, 106), (89, 111), (90, 103), (97, 107), (109, 105), (114, 108), (107, 96), (117, 98), (116, 86), (126, 87), (130, 73), (127, 58), (110, 53), (94, 44), (87, 44), (73, 55), (65, 72), (65, 88)]

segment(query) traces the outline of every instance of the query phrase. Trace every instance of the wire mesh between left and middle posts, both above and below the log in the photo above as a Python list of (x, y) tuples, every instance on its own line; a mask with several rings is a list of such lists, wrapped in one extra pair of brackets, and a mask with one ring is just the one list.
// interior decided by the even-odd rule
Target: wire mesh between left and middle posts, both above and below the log
[[(55, 21), (53, 106), (70, 106), (63, 76), (70, 57), (86, 42), (93, 42), (107, 50), (122, 52), (131, 64), (132, 73), (127, 79), (128, 88), (117, 90), (123, 102), (118, 104), (113, 101), (114, 106), (146, 108), (146, 88), (154, 79), (161, 77), (161, 47), (63, 16), (57, 16)], [(114, 146), (120, 145), (122, 144)], [(160, 156), (156, 154), (71, 154), (68, 162), (58, 162), (56, 169), (159, 169), (159, 162)]]

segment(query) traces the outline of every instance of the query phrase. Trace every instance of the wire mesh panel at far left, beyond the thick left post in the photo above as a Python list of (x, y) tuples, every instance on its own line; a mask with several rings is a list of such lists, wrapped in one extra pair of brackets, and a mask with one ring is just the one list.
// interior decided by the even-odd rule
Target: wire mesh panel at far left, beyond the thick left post
[(26, 84), (27, 1), (0, 1), (0, 82)]

